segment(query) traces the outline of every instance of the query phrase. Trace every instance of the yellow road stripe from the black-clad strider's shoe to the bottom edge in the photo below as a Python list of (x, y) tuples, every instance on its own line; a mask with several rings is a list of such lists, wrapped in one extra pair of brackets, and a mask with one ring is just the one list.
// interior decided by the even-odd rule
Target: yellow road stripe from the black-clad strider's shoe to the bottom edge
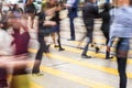
[(77, 84), (80, 84), (80, 85), (84, 85), (84, 86), (88, 86), (90, 88), (113, 88), (111, 86), (101, 84), (99, 81), (95, 81), (95, 80), (91, 80), (91, 79), (86, 79), (86, 78), (82, 78), (82, 77), (79, 77), (79, 76), (75, 76), (75, 75), (72, 75), (72, 74), (68, 74), (68, 73), (64, 73), (64, 72), (61, 72), (58, 69), (54, 69), (52, 67), (41, 66), (41, 70), (43, 70), (45, 73), (48, 73), (48, 74), (52, 74), (52, 75), (55, 75), (55, 76), (58, 76), (58, 77), (62, 77), (64, 79), (72, 80), (74, 82), (77, 82)]

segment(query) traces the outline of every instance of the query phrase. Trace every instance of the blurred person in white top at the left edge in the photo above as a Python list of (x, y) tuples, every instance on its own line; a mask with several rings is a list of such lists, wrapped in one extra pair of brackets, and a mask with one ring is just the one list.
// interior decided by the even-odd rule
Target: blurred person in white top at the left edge
[[(13, 37), (7, 32), (7, 29), (4, 29), (4, 23), (0, 22), (0, 88), (8, 88), (9, 81), (8, 81), (8, 69), (7, 65), (1, 62), (4, 61), (3, 57), (8, 57), (12, 55), (12, 48), (11, 48), (11, 42), (13, 41)], [(8, 61), (4, 61), (8, 63)], [(2, 65), (3, 64), (3, 65)]]

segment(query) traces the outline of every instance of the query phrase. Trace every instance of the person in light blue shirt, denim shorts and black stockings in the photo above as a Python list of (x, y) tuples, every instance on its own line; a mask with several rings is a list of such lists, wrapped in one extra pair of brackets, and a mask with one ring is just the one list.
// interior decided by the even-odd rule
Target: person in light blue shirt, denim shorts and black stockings
[(107, 51), (116, 38), (118, 38), (116, 57), (118, 63), (118, 72), (120, 77), (119, 88), (127, 88), (127, 59), (130, 50), (130, 38), (132, 37), (132, 0), (118, 0), (118, 8), (111, 10), (111, 16), (114, 15), (112, 24), (110, 25), (110, 40)]

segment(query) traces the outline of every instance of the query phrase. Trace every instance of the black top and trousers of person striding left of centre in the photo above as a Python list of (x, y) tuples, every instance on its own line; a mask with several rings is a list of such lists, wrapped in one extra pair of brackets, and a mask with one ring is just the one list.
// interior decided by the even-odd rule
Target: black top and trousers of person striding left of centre
[(40, 65), (41, 65), (43, 53), (47, 53), (47, 50), (48, 50), (47, 46), (46, 46), (46, 43), (44, 41), (44, 37), (48, 35), (48, 34), (44, 33), (44, 30), (46, 29), (46, 26), (43, 25), (44, 21), (45, 21), (45, 13), (40, 12), (37, 15), (38, 15), (37, 41), (40, 43), (40, 47), (38, 47), (38, 51), (36, 53), (35, 63), (34, 63), (34, 66), (33, 66), (33, 69), (32, 69), (33, 74), (40, 73)]

